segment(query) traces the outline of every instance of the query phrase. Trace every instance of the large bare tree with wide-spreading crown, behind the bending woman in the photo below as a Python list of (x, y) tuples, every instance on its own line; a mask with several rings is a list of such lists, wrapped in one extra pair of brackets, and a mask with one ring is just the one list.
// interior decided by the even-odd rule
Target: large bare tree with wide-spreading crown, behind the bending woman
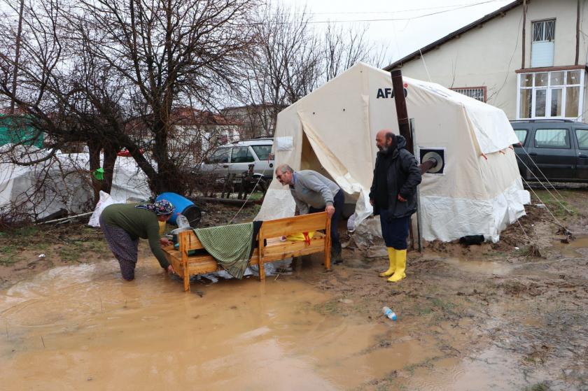
[[(168, 155), (174, 104), (212, 104), (214, 92), (237, 76), (239, 57), (251, 41), (251, 0), (81, 1), (73, 25), (90, 24), (95, 54), (130, 86), (129, 102), (153, 137), (155, 166), (125, 145), (155, 192), (182, 190)], [(83, 15), (83, 16), (78, 16)]]

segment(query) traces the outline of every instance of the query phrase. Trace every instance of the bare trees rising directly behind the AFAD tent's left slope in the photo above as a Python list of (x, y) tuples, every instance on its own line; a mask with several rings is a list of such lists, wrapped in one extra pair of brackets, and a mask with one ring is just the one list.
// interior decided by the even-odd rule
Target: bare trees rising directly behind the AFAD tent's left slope
[(266, 6), (246, 58), (241, 102), (258, 115), (256, 122), (274, 129), (279, 111), (356, 62), (384, 64), (384, 50), (368, 43), (366, 33), (365, 25), (319, 31), (307, 8)]

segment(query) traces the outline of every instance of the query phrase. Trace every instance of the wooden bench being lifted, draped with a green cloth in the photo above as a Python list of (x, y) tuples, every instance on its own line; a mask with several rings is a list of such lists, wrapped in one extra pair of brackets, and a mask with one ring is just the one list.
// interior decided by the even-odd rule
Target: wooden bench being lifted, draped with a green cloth
[[(281, 241), (281, 236), (300, 232), (324, 229), (325, 234), (316, 232), (310, 243), (305, 241)], [(190, 290), (190, 276), (223, 270), (214, 257), (200, 251), (197, 255), (188, 255), (190, 250), (203, 250), (202, 243), (193, 231), (180, 232), (179, 248), (166, 246), (163, 248), (167, 260), (178, 275), (183, 278), (184, 290)], [(259, 266), (259, 278), (265, 280), (263, 264), (314, 253), (325, 253), (325, 268), (330, 269), (330, 218), (327, 213), (311, 213), (308, 215), (267, 220), (261, 225), (256, 238), (258, 247), (253, 250), (249, 265)]]

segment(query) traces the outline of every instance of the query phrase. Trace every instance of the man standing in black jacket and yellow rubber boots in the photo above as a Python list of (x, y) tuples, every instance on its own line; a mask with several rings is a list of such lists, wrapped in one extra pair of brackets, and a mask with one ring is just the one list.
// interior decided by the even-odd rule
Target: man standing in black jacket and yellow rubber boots
[(406, 249), (410, 216), (416, 212), (416, 186), (421, 183), (421, 169), (416, 159), (405, 150), (406, 140), (383, 129), (376, 135), (379, 149), (370, 188), (374, 216), (380, 215), (390, 267), (380, 273), (395, 283), (406, 277)]

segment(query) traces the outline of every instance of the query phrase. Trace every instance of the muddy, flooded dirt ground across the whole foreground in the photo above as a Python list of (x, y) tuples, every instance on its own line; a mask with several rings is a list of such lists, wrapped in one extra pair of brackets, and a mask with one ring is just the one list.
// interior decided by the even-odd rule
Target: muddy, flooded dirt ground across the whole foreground
[[(6, 390), (588, 390), (587, 192), (529, 206), (496, 244), (427, 243), (407, 278), (346, 248), (260, 283), (186, 294), (144, 252), (31, 273), (0, 291)], [(556, 218), (575, 234), (561, 243)], [(393, 322), (382, 306), (398, 314)]]

